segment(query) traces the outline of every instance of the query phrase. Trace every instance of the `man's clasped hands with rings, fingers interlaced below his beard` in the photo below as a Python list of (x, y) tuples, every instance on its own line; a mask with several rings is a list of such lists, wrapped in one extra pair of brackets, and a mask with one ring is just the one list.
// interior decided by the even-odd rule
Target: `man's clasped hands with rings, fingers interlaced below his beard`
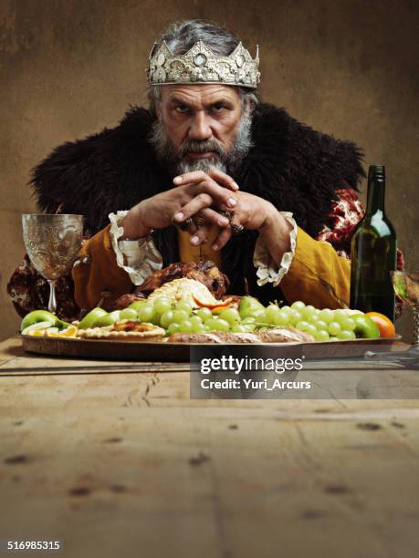
[(272, 203), (240, 191), (236, 182), (224, 172), (215, 169), (187, 172), (175, 177), (173, 184), (173, 189), (143, 200), (128, 212), (121, 223), (126, 238), (139, 238), (152, 229), (190, 222), (187, 231), (191, 234), (191, 243), (197, 246), (207, 242), (209, 230), (215, 225), (218, 234), (212, 248), (221, 250), (230, 240), (234, 225), (238, 225), (237, 230), (241, 227), (257, 230), (266, 236), (268, 243), (269, 239), (276, 238), (278, 244), (281, 236), (286, 237), (279, 251), (287, 251), (288, 222)]

